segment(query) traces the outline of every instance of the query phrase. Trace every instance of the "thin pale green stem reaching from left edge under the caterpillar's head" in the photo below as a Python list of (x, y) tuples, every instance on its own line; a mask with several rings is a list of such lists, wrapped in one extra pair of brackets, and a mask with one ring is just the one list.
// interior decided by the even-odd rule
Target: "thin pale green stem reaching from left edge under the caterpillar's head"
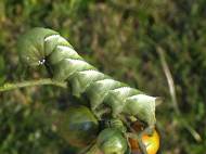
[(26, 81), (21, 81), (21, 82), (13, 82), (13, 84), (8, 82), (0, 87), (0, 92), (24, 88), (24, 87), (41, 86), (41, 85), (52, 85), (52, 86), (57, 86), (61, 88), (67, 87), (66, 82), (52, 80), (50, 78), (43, 78), (43, 79), (38, 79), (38, 80), (26, 80)]

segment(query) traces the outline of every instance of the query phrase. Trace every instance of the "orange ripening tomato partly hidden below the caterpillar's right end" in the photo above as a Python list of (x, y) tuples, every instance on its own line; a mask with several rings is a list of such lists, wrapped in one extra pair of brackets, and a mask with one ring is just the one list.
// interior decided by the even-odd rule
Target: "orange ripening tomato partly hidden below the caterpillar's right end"
[[(133, 125), (133, 129), (137, 132), (142, 130), (141, 125), (139, 125), (138, 123), (136, 123)], [(142, 136), (142, 142), (144, 143), (144, 145), (146, 147), (147, 154), (156, 154), (158, 149), (159, 149), (159, 134), (156, 131), (156, 129), (154, 130), (152, 136), (143, 134)], [(140, 153), (140, 147), (139, 147), (138, 141), (136, 139), (129, 138), (129, 143), (131, 145), (131, 150), (133, 153), (134, 152)]]

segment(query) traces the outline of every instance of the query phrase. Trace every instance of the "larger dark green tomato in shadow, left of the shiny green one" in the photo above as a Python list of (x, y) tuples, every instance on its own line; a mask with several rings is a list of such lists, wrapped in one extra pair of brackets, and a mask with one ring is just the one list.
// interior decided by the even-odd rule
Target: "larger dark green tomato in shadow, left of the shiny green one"
[(70, 145), (85, 147), (98, 136), (99, 123), (86, 106), (69, 107), (59, 116), (57, 133)]

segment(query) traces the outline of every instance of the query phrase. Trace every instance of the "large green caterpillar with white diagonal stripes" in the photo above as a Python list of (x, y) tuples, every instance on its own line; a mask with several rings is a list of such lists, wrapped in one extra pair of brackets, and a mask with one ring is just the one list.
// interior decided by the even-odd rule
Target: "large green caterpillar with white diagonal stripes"
[(104, 104), (114, 117), (136, 116), (154, 128), (158, 99), (100, 73), (57, 31), (37, 27), (23, 35), (17, 44), (22, 62), (29, 66), (49, 66), (52, 78), (68, 81), (74, 95), (87, 95), (94, 114)]

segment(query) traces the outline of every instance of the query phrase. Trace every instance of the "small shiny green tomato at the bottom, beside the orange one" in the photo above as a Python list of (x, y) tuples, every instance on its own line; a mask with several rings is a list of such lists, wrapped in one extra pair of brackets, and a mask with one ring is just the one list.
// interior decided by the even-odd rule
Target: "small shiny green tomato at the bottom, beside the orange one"
[(115, 128), (104, 129), (99, 134), (96, 143), (104, 154), (125, 154), (128, 146), (123, 133)]

